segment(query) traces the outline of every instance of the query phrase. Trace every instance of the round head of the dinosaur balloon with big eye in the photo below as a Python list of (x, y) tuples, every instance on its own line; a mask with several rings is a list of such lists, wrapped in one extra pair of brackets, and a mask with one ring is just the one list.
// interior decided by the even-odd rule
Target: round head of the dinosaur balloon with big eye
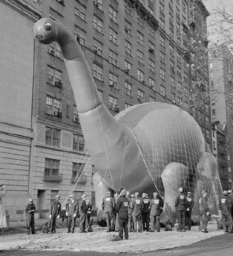
[(42, 18), (36, 22), (33, 33), (42, 44), (50, 44), (57, 37), (57, 27), (53, 21)]

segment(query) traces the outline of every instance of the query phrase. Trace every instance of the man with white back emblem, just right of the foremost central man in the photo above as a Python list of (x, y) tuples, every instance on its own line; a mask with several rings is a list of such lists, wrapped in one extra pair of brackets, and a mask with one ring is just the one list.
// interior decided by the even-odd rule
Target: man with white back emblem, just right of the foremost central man
[(132, 216), (135, 232), (141, 232), (142, 230), (142, 210), (143, 199), (139, 198), (139, 193), (136, 192), (135, 199), (132, 201)]

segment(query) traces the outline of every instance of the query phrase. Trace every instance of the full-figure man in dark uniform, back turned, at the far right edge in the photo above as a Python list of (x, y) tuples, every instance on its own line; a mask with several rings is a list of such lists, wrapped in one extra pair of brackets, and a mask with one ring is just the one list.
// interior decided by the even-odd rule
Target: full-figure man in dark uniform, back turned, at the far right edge
[(223, 196), (219, 199), (219, 210), (222, 213), (222, 221), (223, 221), (223, 232), (228, 233), (232, 232), (232, 204), (230, 202), (230, 197), (228, 196), (228, 192), (226, 190), (223, 191)]

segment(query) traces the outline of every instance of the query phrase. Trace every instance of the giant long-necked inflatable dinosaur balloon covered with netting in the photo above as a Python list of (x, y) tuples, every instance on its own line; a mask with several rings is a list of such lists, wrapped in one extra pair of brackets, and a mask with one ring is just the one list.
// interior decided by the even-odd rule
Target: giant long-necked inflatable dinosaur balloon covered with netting
[(212, 209), (217, 209), (221, 192), (217, 164), (199, 124), (187, 111), (152, 102), (129, 107), (113, 117), (98, 95), (72, 33), (61, 23), (42, 18), (34, 24), (34, 36), (42, 44), (56, 41), (61, 46), (85, 144), (98, 169), (94, 184), (99, 209), (109, 189), (159, 192), (165, 201), (164, 216), (174, 222), (174, 197), (181, 186), (194, 195), (194, 216), (202, 189), (208, 190)]

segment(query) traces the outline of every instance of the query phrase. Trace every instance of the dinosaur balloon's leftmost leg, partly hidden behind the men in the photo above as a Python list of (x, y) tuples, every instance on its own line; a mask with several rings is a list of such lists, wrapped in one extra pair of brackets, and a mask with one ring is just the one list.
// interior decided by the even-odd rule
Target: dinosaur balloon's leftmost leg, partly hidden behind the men
[(96, 197), (96, 208), (97, 208), (97, 223), (100, 225), (100, 227), (107, 227), (107, 222), (105, 220), (105, 213), (102, 210), (102, 201), (103, 197), (105, 197), (106, 193), (108, 191), (111, 191), (113, 194), (113, 191), (111, 188), (109, 188), (103, 178), (98, 174), (94, 173), (92, 177), (93, 186), (95, 190), (95, 197)]

